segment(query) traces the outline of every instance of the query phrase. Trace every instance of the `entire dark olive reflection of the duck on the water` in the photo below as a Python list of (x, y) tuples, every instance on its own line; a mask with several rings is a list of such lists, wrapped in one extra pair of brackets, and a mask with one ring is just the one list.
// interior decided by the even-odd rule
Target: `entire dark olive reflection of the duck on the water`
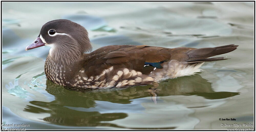
[[(126, 118), (128, 116), (126, 113), (113, 113), (113, 111), (115, 109), (119, 109), (119, 107), (112, 107), (111, 105), (107, 106), (109, 108), (102, 107), (102, 111), (107, 111), (109, 109), (112, 111), (108, 111), (108, 113), (99, 112), (99, 110), (92, 111), (92, 109), (89, 108), (100, 107), (97, 105), (97, 101), (130, 104), (133, 101), (132, 99), (150, 97), (147, 89), (151, 87), (148, 85), (124, 89), (87, 89), (83, 92), (78, 92), (68, 90), (68, 88), (64, 88), (63, 86), (54, 84), (48, 80), (46, 82), (46, 86), (46, 91), (49, 94), (54, 95), (55, 100), (51, 102), (30, 101), (30, 103), (34, 106), (27, 105), (24, 111), (33, 113), (49, 113), (50, 117), (45, 117), (43, 120), (58, 125), (112, 126), (119, 128), (123, 127), (104, 122)], [(206, 99), (222, 99), (239, 94), (235, 92), (215, 92), (211, 88), (211, 83), (207, 82), (207, 80), (202, 78), (199, 74), (196, 74), (195, 76), (184, 76), (167, 80), (160, 83), (158, 88), (161, 89), (160, 93), (158, 93), (158, 96), (197, 95)], [(46, 108), (47, 110), (42, 108)], [(134, 109), (136, 110), (136, 108)]]

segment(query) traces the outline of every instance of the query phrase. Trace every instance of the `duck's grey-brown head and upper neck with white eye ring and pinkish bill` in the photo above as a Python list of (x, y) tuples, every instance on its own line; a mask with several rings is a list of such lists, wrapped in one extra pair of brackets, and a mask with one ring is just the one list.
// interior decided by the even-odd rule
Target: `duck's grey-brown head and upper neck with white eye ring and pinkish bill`
[(72, 64), (92, 47), (87, 30), (70, 20), (59, 19), (45, 23), (33, 43), (26, 50), (49, 46), (49, 57), (55, 63)]

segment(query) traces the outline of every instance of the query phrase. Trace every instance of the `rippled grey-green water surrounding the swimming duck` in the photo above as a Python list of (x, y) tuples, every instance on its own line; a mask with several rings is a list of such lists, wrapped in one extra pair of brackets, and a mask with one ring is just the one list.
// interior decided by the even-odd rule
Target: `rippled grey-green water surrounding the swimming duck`
[[(26, 129), (227, 129), (254, 124), (254, 3), (3, 2), (2, 123)], [(49, 47), (25, 51), (43, 24), (69, 19), (106, 45), (239, 45), (202, 73), (150, 86), (70, 91), (46, 79)], [(219, 121), (236, 118), (236, 121)], [(10, 127), (4, 127), (10, 128)], [(250, 127), (239, 127), (250, 128)]]

